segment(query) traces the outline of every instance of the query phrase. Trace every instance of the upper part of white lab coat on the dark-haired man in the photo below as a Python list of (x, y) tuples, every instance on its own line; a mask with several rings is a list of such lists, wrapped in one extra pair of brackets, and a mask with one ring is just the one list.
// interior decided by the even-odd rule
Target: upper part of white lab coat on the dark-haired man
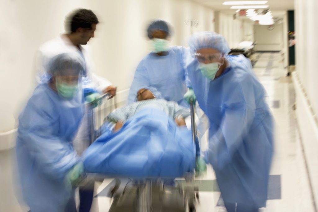
[(66, 37), (66, 35), (60, 35), (58, 38), (52, 39), (44, 43), (37, 52), (36, 57), (36, 80), (38, 83), (46, 83), (48, 76), (48, 65), (51, 58), (54, 56), (67, 53), (77, 52), (84, 56), (86, 63), (86, 79), (90, 83), (90, 87), (93, 87), (98, 92), (102, 92), (111, 83), (102, 77), (99, 77), (93, 73), (93, 62), (89, 57), (89, 48), (87, 45), (79, 45), (81, 51), (75, 47), (72, 42)]

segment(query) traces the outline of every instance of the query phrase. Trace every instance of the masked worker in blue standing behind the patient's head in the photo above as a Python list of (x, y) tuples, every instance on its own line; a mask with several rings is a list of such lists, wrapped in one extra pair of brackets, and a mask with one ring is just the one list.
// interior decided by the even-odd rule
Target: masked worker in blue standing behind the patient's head
[(154, 87), (168, 101), (187, 106), (183, 95), (190, 85), (186, 82), (183, 55), (189, 51), (183, 46), (169, 46), (171, 31), (167, 22), (155, 20), (148, 27), (148, 38), (154, 51), (139, 63), (131, 84), (128, 104), (135, 101), (137, 91), (142, 87)]

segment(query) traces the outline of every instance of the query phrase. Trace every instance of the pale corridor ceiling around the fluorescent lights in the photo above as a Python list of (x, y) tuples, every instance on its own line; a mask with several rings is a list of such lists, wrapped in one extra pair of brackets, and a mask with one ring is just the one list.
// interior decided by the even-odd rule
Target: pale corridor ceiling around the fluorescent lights
[[(235, 9), (230, 9), (232, 5), (223, 5), (222, 3), (225, 1), (237, 1), (237, 0), (192, 0), (201, 4), (204, 4), (215, 11), (222, 11), (226, 14), (235, 14)], [(244, 1), (244, 0), (241, 0)], [(268, 0), (266, 4), (261, 5), (269, 5), (269, 9), (271, 9), (273, 16), (274, 13), (284, 14), (286, 10), (294, 10), (294, 0)]]

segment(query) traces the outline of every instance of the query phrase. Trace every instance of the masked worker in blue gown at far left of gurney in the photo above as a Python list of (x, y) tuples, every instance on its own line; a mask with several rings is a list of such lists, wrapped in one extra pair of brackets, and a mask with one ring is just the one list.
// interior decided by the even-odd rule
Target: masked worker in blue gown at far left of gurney
[(34, 90), (19, 116), (17, 162), (31, 212), (76, 212), (72, 184), (83, 172), (72, 140), (82, 119), (81, 73), (74, 53), (51, 59), (51, 79)]

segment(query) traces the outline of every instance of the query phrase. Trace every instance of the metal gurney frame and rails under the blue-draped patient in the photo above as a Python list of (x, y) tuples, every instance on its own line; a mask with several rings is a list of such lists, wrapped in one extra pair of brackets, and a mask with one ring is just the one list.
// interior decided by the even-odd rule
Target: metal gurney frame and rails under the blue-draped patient
[[(99, 101), (99, 106), (93, 108), (94, 102), (90, 105), (90, 141), (97, 140), (102, 133), (109, 129), (109, 123), (103, 119), (113, 108), (116, 108), (116, 99), (107, 100), (107, 95), (103, 95)], [(197, 139), (197, 131), (195, 125), (195, 107), (191, 102), (191, 134), (192, 141), (199, 153), (199, 145)], [(103, 121), (102, 121), (103, 120)], [(103, 123), (101, 123), (103, 122)], [(105, 130), (106, 129), (106, 130)], [(196, 161), (193, 161), (194, 167)], [(92, 181), (103, 181), (105, 178), (115, 178), (113, 187), (109, 192), (109, 196), (113, 198), (110, 212), (116, 211), (195, 211), (195, 206), (198, 201), (198, 188), (193, 185), (195, 177), (195, 169), (193, 168), (183, 177), (186, 180), (186, 185), (168, 186), (164, 183), (165, 180), (171, 180), (171, 177), (153, 177), (153, 176), (125, 176), (131, 178), (129, 182), (124, 182), (118, 175), (105, 175), (99, 173), (85, 173), (77, 182), (77, 186), (85, 187), (86, 184), (91, 184)], [(122, 176), (121, 176), (122, 177)], [(172, 178), (172, 179), (173, 179)]]

